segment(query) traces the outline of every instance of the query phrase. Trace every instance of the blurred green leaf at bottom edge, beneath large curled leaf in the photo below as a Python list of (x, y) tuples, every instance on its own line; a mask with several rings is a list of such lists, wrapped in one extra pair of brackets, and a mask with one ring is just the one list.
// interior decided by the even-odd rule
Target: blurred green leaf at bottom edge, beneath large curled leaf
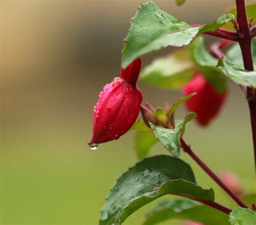
[(159, 202), (146, 215), (144, 225), (153, 225), (171, 219), (185, 219), (207, 225), (230, 225), (228, 215), (188, 199)]

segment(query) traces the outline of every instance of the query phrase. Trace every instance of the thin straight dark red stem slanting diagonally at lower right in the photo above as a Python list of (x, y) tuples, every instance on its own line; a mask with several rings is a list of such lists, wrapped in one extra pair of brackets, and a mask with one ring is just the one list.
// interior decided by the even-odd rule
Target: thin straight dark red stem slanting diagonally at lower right
[(225, 190), (225, 192), (232, 197), (232, 199), (239, 204), (239, 206), (243, 208), (248, 208), (244, 202), (242, 202), (237, 195), (235, 195), (232, 190), (230, 190), (219, 178), (215, 175), (209, 167), (205, 165), (203, 161), (201, 161), (198, 156), (192, 151), (190, 146), (186, 144), (186, 142), (180, 138), (181, 147), (184, 151), (191, 156), (191, 158), (197, 162), (197, 164), (216, 182), (218, 185)]

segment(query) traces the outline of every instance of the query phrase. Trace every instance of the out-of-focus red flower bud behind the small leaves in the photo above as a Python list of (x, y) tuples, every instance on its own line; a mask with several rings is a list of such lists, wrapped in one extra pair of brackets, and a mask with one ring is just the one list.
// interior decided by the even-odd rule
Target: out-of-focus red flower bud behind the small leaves
[(199, 72), (195, 73), (194, 78), (183, 87), (182, 91), (185, 96), (197, 92), (185, 102), (185, 105), (188, 111), (197, 113), (196, 120), (203, 126), (208, 125), (218, 114), (226, 99), (226, 93), (217, 92)]

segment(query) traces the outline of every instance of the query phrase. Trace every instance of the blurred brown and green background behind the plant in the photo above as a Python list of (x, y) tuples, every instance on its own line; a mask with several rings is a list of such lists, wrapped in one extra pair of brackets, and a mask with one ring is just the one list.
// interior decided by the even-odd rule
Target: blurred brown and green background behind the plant
[[(156, 0), (188, 23), (211, 22), (233, 0)], [(250, 2), (250, 1), (248, 1)], [(120, 71), (122, 40), (139, 0), (1, 1), (1, 224), (97, 224), (105, 196), (136, 161), (133, 134), (91, 151), (92, 109), (102, 87)], [(207, 38), (212, 42), (213, 38)], [(173, 51), (143, 57), (143, 65)], [(181, 93), (138, 84), (152, 105)], [(183, 118), (180, 109), (177, 117)], [(227, 103), (208, 129), (191, 123), (186, 139), (215, 172), (230, 169), (246, 191), (254, 186), (246, 100), (230, 84)], [(151, 154), (167, 154), (156, 145)], [(233, 206), (185, 154), (198, 183)], [(125, 225), (140, 224), (152, 203)], [(169, 222), (166, 224), (174, 224)]]

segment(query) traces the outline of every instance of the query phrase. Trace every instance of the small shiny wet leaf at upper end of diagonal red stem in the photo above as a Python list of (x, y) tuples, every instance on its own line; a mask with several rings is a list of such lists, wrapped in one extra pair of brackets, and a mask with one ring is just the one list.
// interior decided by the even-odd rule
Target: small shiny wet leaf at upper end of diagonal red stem
[(184, 134), (186, 124), (197, 116), (196, 113), (187, 113), (181, 124), (174, 129), (167, 129), (160, 126), (151, 125), (151, 128), (157, 139), (163, 146), (173, 155), (179, 157), (180, 155), (180, 137)]

